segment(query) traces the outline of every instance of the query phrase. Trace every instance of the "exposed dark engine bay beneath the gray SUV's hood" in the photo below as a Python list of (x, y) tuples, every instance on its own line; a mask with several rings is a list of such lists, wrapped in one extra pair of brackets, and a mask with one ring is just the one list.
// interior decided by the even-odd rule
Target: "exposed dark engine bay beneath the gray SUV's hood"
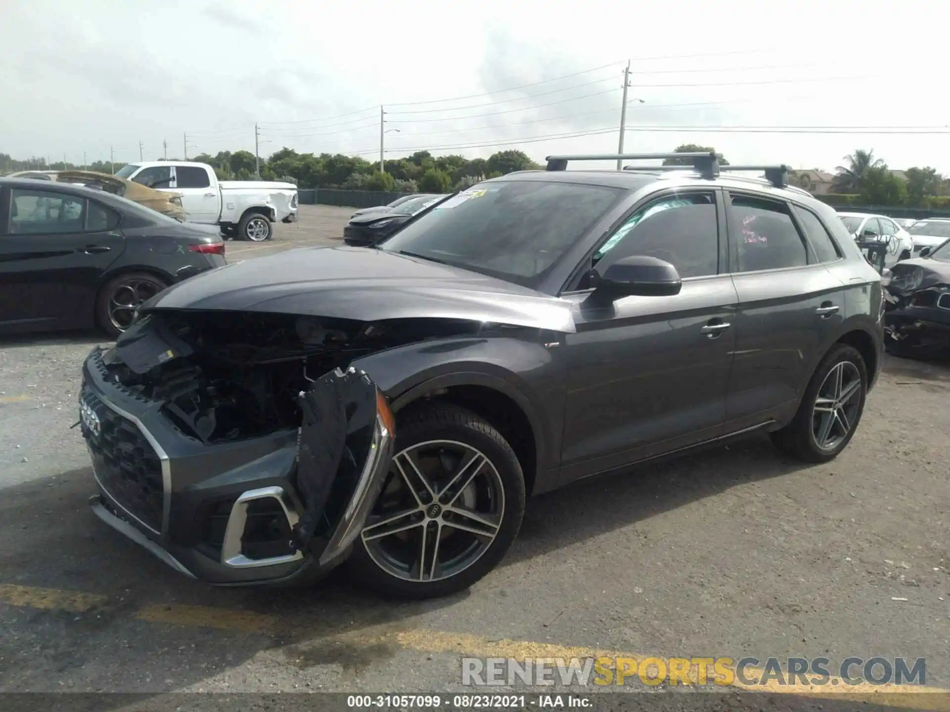
[(206, 444), (301, 422), (298, 395), (322, 374), (387, 348), (477, 333), (479, 322), (364, 323), (292, 314), (157, 309), (103, 355), (108, 379)]

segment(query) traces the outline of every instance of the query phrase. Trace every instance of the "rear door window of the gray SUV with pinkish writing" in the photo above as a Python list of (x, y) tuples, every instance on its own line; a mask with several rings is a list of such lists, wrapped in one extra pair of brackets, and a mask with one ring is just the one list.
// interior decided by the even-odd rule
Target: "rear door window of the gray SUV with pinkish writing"
[(804, 267), (808, 252), (788, 207), (757, 197), (731, 196), (730, 237), (736, 255), (735, 272), (759, 272)]

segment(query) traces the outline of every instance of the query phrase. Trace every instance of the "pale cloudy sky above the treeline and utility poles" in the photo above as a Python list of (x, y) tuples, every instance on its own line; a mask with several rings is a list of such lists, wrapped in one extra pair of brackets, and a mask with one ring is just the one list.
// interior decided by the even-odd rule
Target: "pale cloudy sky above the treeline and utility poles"
[(610, 153), (629, 60), (628, 152), (950, 173), (937, 2), (0, 1), (15, 158)]

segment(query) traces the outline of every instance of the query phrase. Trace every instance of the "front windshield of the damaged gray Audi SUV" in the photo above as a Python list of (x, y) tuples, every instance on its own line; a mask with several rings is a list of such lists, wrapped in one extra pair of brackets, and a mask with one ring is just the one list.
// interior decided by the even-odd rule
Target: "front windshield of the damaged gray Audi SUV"
[(381, 249), (536, 287), (623, 194), (538, 180), (482, 183), (435, 206)]

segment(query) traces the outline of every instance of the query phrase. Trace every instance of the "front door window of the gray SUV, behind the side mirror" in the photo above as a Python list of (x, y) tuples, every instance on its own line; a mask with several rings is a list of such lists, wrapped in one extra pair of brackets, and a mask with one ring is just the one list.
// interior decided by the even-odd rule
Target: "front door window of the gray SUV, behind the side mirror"
[(663, 197), (630, 215), (597, 253), (614, 263), (623, 257), (656, 257), (672, 264), (679, 276), (718, 272), (719, 231), (712, 193)]

